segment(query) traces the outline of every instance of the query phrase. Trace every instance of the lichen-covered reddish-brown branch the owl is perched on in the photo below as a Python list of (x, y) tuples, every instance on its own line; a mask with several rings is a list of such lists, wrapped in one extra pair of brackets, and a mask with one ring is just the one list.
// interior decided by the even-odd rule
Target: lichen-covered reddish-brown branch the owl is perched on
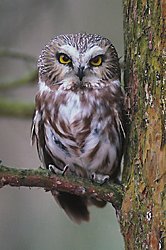
[(12, 187), (41, 187), (47, 191), (56, 189), (79, 196), (91, 196), (112, 203), (116, 210), (121, 208), (123, 188), (120, 185), (107, 183), (99, 185), (90, 180), (71, 175), (50, 174), (46, 169), (16, 169), (0, 166), (0, 188)]

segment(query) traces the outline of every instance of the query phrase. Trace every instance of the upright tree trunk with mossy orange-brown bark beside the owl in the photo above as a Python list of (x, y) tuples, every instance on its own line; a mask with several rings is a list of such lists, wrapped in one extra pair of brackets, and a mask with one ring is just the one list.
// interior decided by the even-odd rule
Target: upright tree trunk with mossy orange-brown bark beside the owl
[(130, 250), (166, 249), (164, 10), (164, 0), (124, 0), (129, 125), (120, 224)]

